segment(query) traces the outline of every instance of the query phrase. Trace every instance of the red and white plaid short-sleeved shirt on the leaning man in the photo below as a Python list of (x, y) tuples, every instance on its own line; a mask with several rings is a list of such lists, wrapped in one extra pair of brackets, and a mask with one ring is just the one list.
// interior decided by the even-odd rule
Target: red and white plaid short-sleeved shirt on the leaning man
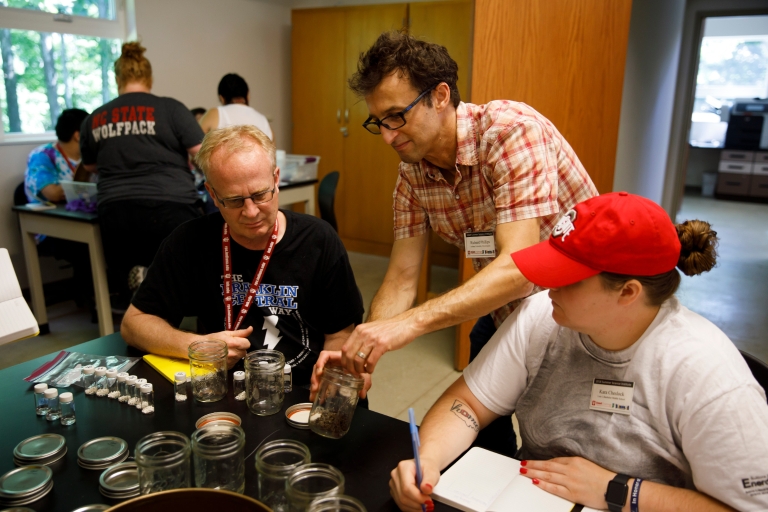
[[(546, 240), (561, 211), (597, 195), (570, 144), (524, 103), (459, 103), (456, 138), (455, 184), (426, 160), (400, 163), (393, 194), (395, 240), (431, 227), (463, 251), (464, 233), (495, 232), (497, 224), (535, 217), (541, 219), (539, 239)], [(475, 258), (475, 270), (492, 260)], [(518, 302), (492, 313), (497, 326)]]

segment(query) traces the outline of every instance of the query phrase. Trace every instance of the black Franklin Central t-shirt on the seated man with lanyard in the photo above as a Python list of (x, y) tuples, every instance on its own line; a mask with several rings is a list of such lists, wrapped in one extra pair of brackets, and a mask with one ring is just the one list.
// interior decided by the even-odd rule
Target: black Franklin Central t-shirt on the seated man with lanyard
[[(323, 349), (324, 335), (360, 323), (363, 303), (347, 252), (333, 228), (316, 217), (283, 213), (285, 234), (240, 328), (252, 325), (250, 350), (281, 351), (294, 367), (296, 384), (304, 385)], [(174, 327), (183, 317), (196, 316), (201, 334), (225, 330), (223, 225), (217, 212), (179, 226), (160, 246), (133, 305)], [(263, 251), (251, 251), (234, 240), (231, 247), (237, 318)]]

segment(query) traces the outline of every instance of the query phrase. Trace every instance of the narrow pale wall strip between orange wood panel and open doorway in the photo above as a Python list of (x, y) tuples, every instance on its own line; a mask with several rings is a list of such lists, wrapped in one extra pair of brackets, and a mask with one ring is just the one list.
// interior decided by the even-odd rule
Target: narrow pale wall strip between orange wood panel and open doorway
[(684, 0), (632, 2), (614, 190), (661, 203)]

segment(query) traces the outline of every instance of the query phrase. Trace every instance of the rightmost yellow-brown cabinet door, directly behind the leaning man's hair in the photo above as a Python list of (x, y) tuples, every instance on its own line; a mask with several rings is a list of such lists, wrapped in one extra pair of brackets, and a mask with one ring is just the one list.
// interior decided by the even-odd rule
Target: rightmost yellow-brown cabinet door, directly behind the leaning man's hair
[[(408, 32), (424, 41), (436, 43), (448, 50), (459, 65), (457, 86), (461, 100), (469, 101), (472, 77), (472, 0), (448, 2), (418, 2), (410, 4)], [(456, 268), (459, 263), (457, 247), (430, 234), (430, 261), (433, 265)]]

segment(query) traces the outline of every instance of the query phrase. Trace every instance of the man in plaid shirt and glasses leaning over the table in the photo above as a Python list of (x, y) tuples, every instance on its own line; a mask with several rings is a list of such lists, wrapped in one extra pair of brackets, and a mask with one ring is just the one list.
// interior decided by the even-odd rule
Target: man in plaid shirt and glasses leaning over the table
[[(367, 323), (344, 344), (350, 370), (371, 373), (385, 352), (479, 318), (474, 357), (533, 291), (509, 255), (549, 238), (564, 212), (597, 195), (549, 120), (514, 101), (462, 102), (457, 72), (445, 47), (389, 32), (360, 56), (349, 81), (368, 105), (364, 127), (402, 160), (389, 268)], [(411, 307), (430, 228), (462, 249), (460, 257), (472, 251), (478, 273)]]

